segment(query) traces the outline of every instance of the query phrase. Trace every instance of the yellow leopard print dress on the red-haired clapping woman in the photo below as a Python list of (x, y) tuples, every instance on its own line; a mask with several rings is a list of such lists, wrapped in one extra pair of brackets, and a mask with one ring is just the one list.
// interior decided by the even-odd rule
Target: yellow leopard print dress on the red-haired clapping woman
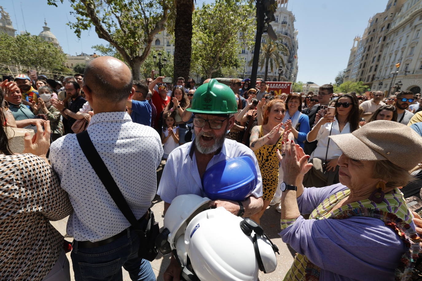
[[(262, 126), (260, 126), (259, 137), (262, 136), (264, 136), (264, 132)], [(277, 158), (276, 149), (281, 151), (281, 138), (275, 147), (274, 145), (262, 145), (254, 151), (262, 176), (263, 200), (271, 201), (273, 199), (279, 183), (279, 158)]]

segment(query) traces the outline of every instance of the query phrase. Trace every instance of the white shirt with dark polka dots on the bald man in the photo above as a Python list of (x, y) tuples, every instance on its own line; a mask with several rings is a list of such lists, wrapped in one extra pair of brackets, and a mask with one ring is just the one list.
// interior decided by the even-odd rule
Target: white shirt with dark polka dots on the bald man
[[(126, 112), (97, 113), (87, 130), (133, 214), (141, 218), (157, 189), (156, 169), (163, 153), (157, 131), (133, 123)], [(130, 226), (89, 164), (76, 134), (53, 142), (49, 158), (73, 206), (69, 235), (77, 241), (95, 242)]]

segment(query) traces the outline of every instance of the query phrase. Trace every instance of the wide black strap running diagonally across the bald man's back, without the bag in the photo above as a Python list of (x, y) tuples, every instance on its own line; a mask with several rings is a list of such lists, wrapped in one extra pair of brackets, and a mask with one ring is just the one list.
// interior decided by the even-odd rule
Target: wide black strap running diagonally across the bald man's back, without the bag
[(122, 211), (124, 217), (126, 217), (126, 219), (133, 227), (137, 229), (141, 228), (138, 220), (136, 219), (126, 200), (124, 200), (119, 187), (117, 187), (116, 182), (114, 181), (113, 177), (111, 177), (110, 171), (108, 171), (106, 164), (104, 164), (103, 159), (101, 159), (100, 155), (92, 144), (88, 131), (83, 131), (79, 134), (76, 134), (76, 138), (78, 139), (82, 152), (85, 154), (85, 157), (87, 157), (88, 162), (91, 164), (92, 169), (94, 169), (95, 173), (97, 173), (97, 176), (100, 178), (104, 187), (106, 187), (106, 190), (110, 194), (111, 198), (113, 198), (114, 203), (116, 203), (117, 207), (120, 209), (120, 211)]

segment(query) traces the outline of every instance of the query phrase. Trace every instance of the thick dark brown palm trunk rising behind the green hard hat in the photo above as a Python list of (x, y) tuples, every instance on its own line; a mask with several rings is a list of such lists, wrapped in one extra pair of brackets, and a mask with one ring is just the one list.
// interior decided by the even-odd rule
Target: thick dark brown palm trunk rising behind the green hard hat
[(174, 79), (189, 79), (192, 55), (192, 12), (193, 0), (175, 0), (176, 18), (174, 25)]

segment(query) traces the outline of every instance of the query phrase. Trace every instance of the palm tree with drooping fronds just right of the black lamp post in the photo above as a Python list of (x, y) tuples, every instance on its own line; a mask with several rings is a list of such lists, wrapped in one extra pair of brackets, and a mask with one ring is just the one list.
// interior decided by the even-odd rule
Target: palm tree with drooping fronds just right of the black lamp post
[(274, 69), (278, 69), (280, 65), (283, 67), (285, 66), (283, 56), (289, 56), (289, 49), (287, 49), (284, 44), (271, 40), (270, 38), (268, 38), (268, 43), (261, 44), (258, 65), (261, 70), (265, 67), (264, 81), (268, 78), (268, 67), (270, 67), (271, 72), (273, 72)]

